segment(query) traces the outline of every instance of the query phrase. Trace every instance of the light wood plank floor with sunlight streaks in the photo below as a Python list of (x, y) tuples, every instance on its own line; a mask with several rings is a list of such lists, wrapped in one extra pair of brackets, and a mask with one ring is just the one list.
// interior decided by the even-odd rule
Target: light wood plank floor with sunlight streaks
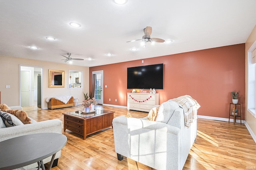
[[(130, 113), (145, 117), (147, 113), (96, 105), (96, 108), (115, 111), (114, 117)], [(54, 110), (26, 111), (32, 119), (44, 121), (60, 119), (64, 112), (81, 110), (68, 107)], [(86, 140), (69, 130), (62, 132), (68, 138), (62, 149), (58, 166), (52, 170), (152, 170), (152, 168), (124, 157), (119, 161), (114, 150), (113, 129), (107, 128), (88, 135)], [(184, 170), (246, 170), (256, 169), (256, 143), (245, 125), (198, 118), (196, 141), (190, 150)]]

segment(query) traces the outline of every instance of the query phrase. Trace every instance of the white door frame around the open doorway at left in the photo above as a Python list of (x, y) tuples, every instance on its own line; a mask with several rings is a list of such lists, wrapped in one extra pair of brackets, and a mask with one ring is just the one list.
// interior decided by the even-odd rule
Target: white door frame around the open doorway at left
[(19, 105), (21, 106), (21, 67), (34, 67), (34, 68), (41, 68), (41, 108), (44, 108), (44, 67), (40, 66), (31, 66), (31, 65), (25, 65), (25, 64), (19, 64)]

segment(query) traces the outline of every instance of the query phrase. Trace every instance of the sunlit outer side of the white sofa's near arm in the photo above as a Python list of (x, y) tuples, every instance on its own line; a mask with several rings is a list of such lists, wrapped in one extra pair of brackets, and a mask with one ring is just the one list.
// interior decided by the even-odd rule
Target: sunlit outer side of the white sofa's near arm
[(116, 153), (156, 169), (180, 169), (180, 129), (157, 121), (113, 119)]

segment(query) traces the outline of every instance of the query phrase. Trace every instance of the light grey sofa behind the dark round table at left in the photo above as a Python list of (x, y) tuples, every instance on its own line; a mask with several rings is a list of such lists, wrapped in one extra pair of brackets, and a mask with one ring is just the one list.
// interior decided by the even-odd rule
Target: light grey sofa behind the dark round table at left
[[(22, 110), (20, 106), (10, 107), (11, 109)], [(31, 119), (31, 118), (30, 118)], [(2, 119), (0, 118), (0, 121)], [(3, 122), (0, 122), (3, 123)], [(59, 119), (52, 119), (47, 121), (36, 122), (32, 119), (32, 123), (24, 125), (16, 125), (13, 127), (0, 127), (0, 142), (10, 138), (33, 134), (33, 133), (62, 133), (62, 121)], [(54, 165), (58, 164), (58, 158), (60, 158), (60, 151), (56, 153), (54, 159)], [(51, 156), (44, 159), (44, 163), (50, 162)], [(30, 169), (38, 167), (37, 163), (24, 166), (22, 169)]]

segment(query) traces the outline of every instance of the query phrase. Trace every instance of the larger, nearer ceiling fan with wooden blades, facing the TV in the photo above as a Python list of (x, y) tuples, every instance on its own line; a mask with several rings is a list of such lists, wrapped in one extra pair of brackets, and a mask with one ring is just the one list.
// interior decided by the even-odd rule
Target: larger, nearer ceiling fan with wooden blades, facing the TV
[(150, 38), (150, 35), (152, 33), (152, 27), (147, 26), (146, 28), (143, 29), (144, 31), (144, 35), (142, 36), (142, 39), (136, 39), (136, 40), (132, 40), (132, 41), (127, 41), (126, 43), (129, 42), (133, 42), (133, 41), (138, 41), (138, 40), (142, 40), (142, 44), (144, 45), (144, 47), (146, 47), (146, 43), (150, 42), (150, 43), (163, 43), (164, 39), (160, 39), (160, 38)]

